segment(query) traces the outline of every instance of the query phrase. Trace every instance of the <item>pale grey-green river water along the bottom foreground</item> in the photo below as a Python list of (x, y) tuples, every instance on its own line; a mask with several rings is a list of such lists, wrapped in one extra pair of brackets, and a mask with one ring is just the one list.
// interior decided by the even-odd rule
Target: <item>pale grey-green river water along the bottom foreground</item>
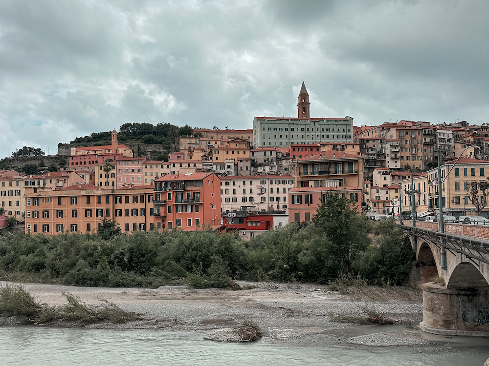
[(456, 338), (441, 350), (414, 347), (298, 347), (267, 339), (231, 344), (204, 341), (200, 332), (0, 328), (0, 365), (344, 365), (482, 366), (487, 340)]

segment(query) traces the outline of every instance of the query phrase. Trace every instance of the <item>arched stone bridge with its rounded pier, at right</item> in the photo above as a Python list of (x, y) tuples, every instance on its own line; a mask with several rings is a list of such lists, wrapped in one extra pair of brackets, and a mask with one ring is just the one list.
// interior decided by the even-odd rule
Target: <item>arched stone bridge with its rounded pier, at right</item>
[(489, 336), (489, 226), (406, 221), (423, 292), (422, 330)]

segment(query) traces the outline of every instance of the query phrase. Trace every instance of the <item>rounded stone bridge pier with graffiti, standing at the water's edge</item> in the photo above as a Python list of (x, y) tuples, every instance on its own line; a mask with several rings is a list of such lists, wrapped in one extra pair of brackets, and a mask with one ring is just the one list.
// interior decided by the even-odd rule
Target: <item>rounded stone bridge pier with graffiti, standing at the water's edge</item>
[(423, 321), (428, 333), (489, 336), (489, 290), (445, 288), (423, 284)]

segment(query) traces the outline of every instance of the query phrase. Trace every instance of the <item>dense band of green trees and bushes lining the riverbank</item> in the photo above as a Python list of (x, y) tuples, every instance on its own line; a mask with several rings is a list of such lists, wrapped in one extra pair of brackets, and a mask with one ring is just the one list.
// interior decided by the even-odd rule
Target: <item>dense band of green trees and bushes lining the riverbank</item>
[(104, 220), (97, 235), (0, 238), (0, 276), (100, 286), (158, 286), (182, 278), (197, 287), (229, 286), (231, 279), (327, 283), (341, 276), (402, 284), (413, 256), (409, 242), (390, 221), (370, 225), (337, 194), (310, 225), (289, 224), (249, 242), (205, 229), (126, 235)]

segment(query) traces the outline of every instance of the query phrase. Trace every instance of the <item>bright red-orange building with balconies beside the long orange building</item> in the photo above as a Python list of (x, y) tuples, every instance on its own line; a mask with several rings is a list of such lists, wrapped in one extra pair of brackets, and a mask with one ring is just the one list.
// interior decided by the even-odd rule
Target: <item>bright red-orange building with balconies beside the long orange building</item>
[(221, 180), (215, 173), (169, 174), (155, 180), (155, 225), (158, 230), (198, 230), (221, 224)]

